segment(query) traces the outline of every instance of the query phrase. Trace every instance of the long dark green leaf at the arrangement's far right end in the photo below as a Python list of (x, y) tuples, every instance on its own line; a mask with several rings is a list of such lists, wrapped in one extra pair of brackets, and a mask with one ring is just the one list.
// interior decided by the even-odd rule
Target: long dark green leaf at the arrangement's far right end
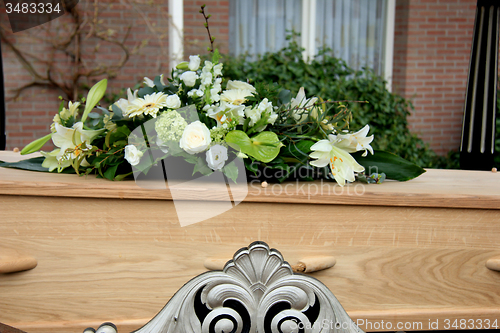
[(416, 178), (425, 172), (424, 169), (404, 158), (383, 150), (375, 150), (373, 155), (361, 156), (356, 152), (352, 156), (365, 167), (368, 173), (385, 173), (388, 179), (406, 181)]

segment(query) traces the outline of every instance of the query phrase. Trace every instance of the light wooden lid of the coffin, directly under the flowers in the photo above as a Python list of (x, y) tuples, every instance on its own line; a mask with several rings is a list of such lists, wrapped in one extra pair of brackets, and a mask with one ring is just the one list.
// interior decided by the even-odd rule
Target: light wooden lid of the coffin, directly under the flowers
[[(0, 160), (14, 161), (27, 157), (0, 152)], [(378, 185), (353, 183), (344, 188), (332, 182), (289, 182), (271, 184), (267, 188), (251, 183), (244, 190), (248, 190), (247, 202), (500, 209), (500, 173), (490, 171), (429, 169), (408, 182), (386, 181)], [(0, 168), (0, 194), (172, 200), (168, 189), (144, 189), (133, 180), (111, 182), (93, 176), (6, 168)], [(181, 188), (178, 195), (189, 200), (224, 200), (227, 191), (224, 189), (219, 193), (207, 187), (199, 191), (186, 188), (183, 193)]]

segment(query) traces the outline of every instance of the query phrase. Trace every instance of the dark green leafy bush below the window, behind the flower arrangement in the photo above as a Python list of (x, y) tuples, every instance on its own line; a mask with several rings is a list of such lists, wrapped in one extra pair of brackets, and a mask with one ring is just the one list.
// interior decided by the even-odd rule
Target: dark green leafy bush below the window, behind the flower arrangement
[[(289, 39), (292, 37), (289, 36)], [(260, 55), (256, 60), (249, 59), (248, 56), (226, 56), (224, 77), (241, 81), (248, 79), (255, 85), (275, 82), (291, 90), (292, 96), (304, 87), (307, 97), (367, 101), (349, 102), (346, 106), (353, 115), (350, 121), (352, 129), (370, 125), (370, 134), (375, 135), (374, 149), (392, 152), (421, 167), (436, 167), (443, 163), (443, 158), (410, 133), (407, 116), (413, 109), (411, 102), (389, 92), (386, 82), (371, 70), (355, 71), (328, 49), (321, 51), (310, 62), (305, 62), (302, 49), (293, 40), (275, 53)]]

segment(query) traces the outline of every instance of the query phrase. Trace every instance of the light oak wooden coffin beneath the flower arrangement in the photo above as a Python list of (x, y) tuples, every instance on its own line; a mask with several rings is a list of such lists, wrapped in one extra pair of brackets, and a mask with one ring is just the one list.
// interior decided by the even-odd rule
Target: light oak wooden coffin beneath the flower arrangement
[(500, 267), (500, 174), (327, 185), (251, 184), (239, 205), (182, 227), (168, 190), (0, 168), (0, 267), (37, 261), (0, 274), (0, 322), (33, 333), (104, 321), (132, 331), (207, 259), (261, 240), (290, 264), (334, 256), (311, 275), (365, 331), (500, 325), (500, 272), (486, 266)]

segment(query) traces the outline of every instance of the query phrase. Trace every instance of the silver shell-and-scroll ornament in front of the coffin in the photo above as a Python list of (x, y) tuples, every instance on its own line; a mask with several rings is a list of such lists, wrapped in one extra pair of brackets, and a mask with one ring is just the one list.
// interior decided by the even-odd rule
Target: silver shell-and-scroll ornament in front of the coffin
[(363, 331), (319, 280), (293, 273), (281, 253), (254, 242), (222, 271), (186, 283), (135, 333)]

